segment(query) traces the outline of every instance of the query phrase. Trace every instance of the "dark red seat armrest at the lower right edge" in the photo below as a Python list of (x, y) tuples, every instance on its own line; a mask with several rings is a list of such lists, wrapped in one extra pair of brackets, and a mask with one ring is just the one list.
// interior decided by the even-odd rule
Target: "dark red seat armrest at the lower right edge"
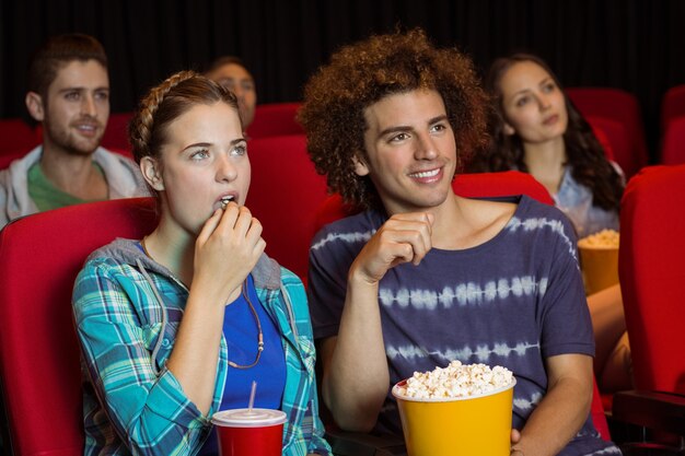
[(614, 394), (612, 417), (642, 428), (685, 435), (685, 396), (629, 390)]

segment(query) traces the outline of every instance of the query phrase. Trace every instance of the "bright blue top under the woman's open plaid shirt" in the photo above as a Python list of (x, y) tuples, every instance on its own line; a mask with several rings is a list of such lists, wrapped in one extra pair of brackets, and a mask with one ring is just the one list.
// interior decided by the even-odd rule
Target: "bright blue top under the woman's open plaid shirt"
[[(249, 369), (229, 366), (227, 383), (219, 410), (247, 407), (252, 382), (257, 382), (254, 407), (279, 409), (286, 387), (286, 355), (280, 332), (257, 297), (252, 276), (247, 277), (247, 296), (257, 312), (264, 335), (264, 351), (257, 365)], [(229, 361), (249, 365), (257, 355), (257, 323), (249, 305), (241, 294), (227, 305), (223, 316), (223, 337), (229, 346)], [(199, 455), (218, 455), (216, 430), (212, 429)]]

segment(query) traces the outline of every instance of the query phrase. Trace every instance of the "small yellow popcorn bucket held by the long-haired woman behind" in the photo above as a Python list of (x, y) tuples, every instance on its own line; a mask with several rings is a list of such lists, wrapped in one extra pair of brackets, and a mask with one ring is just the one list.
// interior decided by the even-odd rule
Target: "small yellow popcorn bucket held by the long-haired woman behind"
[(579, 243), (580, 269), (590, 295), (618, 283), (618, 247), (583, 246)]

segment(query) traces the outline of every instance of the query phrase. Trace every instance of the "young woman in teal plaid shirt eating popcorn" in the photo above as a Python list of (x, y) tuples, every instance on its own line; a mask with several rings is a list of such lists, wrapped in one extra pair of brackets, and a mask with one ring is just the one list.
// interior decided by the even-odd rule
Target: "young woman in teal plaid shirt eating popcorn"
[(129, 126), (159, 197), (142, 239), (116, 239), (80, 272), (86, 455), (217, 454), (210, 418), (283, 410), (283, 455), (329, 455), (300, 280), (264, 254), (244, 206), (251, 167), (235, 96), (194, 72), (142, 100)]

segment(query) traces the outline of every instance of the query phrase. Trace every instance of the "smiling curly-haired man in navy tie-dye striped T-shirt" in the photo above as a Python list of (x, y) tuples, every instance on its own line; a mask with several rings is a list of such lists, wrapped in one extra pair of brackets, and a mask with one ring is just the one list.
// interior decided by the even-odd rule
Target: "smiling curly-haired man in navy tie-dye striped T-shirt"
[(458, 359), (516, 375), (512, 454), (619, 454), (589, 419), (594, 343), (568, 220), (525, 196), (452, 190), (487, 140), (469, 58), (419, 30), (374, 36), (334, 55), (304, 98), (312, 160), (365, 209), (324, 227), (310, 252), (323, 397), (338, 425), (399, 433), (388, 386)]

